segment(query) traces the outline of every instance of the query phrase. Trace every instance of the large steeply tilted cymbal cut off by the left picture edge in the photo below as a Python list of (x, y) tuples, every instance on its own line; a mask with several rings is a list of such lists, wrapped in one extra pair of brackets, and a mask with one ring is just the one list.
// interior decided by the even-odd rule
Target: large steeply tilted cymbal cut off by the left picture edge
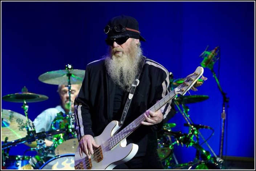
[[(5, 109), (1, 110), (1, 115), (2, 141), (5, 140), (5, 137), (8, 137), (7, 141), (13, 141), (27, 136), (27, 130), (24, 127), (27, 121), (26, 116)], [(30, 119), (29, 121), (32, 123)]]

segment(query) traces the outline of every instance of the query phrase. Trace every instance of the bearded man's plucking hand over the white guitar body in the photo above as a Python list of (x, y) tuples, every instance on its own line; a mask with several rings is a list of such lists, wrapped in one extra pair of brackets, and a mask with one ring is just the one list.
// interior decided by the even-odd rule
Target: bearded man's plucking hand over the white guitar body
[(84, 152), (88, 158), (91, 158), (91, 155), (93, 154), (93, 147), (98, 148), (99, 145), (96, 144), (94, 141), (93, 136), (91, 135), (84, 135), (81, 137), (79, 141), (79, 152), (80, 156), (83, 156)]

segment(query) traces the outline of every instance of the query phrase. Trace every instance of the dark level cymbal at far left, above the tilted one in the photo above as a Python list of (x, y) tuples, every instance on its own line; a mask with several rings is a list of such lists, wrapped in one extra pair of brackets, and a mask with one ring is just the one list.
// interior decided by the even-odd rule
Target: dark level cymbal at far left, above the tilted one
[(34, 94), (30, 92), (20, 92), (15, 94), (8, 94), (2, 97), (3, 100), (8, 102), (41, 102), (48, 99), (46, 95)]

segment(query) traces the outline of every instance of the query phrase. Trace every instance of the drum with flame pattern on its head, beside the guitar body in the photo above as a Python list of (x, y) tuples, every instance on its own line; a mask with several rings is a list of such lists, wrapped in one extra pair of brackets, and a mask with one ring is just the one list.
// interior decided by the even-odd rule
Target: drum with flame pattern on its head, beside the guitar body
[(75, 154), (62, 154), (45, 162), (40, 170), (75, 170)]

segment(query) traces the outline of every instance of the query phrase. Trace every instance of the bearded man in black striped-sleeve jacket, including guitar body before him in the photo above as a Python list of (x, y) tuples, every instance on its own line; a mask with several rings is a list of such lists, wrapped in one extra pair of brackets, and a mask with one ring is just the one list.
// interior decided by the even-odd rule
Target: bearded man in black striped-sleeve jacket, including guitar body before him
[(114, 17), (104, 31), (109, 53), (87, 65), (75, 99), (75, 168), (163, 169), (157, 131), (174, 116), (174, 105), (148, 109), (168, 94), (169, 72), (143, 56), (140, 40), (146, 40), (135, 18)]

